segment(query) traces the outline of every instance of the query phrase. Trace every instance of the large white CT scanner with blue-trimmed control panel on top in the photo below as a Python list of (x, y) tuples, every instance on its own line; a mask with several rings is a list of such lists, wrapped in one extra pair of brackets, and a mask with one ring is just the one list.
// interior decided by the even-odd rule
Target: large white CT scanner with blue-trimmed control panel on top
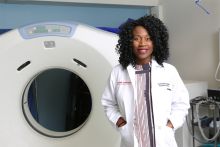
[[(108, 75), (118, 62), (114, 50), (117, 39), (116, 34), (75, 22), (37, 23), (1, 35), (0, 146), (118, 147), (119, 134), (107, 121), (100, 102)], [(29, 108), (31, 86), (34, 81), (34, 84), (39, 81), (36, 78), (47, 71), (60, 70), (72, 74), (75, 79), (81, 79), (81, 83), (88, 88), (86, 92), (90, 93), (88, 100), (91, 106), (88, 114), (83, 122), (67, 131), (44, 127)], [(60, 78), (58, 76), (54, 79)], [(48, 83), (54, 79), (43, 82), (41, 86), (44, 87), (41, 89), (47, 91), (53, 87), (54, 83)], [(61, 81), (64, 80), (61, 78)], [(75, 91), (72, 92), (79, 90), (81, 85), (75, 85)], [(38, 86), (35, 85), (32, 97), (40, 95), (36, 91), (40, 89)], [(59, 88), (52, 89), (52, 93), (59, 93)], [(42, 97), (44, 101), (41, 103), (44, 105), (47, 101)], [(55, 101), (52, 95), (49, 103), (53, 104)], [(52, 107), (43, 105), (35, 106), (45, 107), (41, 110), (43, 113)], [(55, 115), (58, 114), (52, 111), (49, 116), (44, 117)], [(54, 122), (57, 121), (59, 120)]]

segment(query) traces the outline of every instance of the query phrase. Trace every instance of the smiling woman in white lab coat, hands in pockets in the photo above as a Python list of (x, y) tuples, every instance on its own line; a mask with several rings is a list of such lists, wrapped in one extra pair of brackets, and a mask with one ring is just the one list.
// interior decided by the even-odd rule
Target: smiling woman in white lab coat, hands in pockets
[(176, 68), (165, 63), (165, 25), (153, 16), (126, 22), (116, 51), (120, 64), (101, 101), (121, 147), (177, 147), (174, 131), (185, 121), (189, 96)]

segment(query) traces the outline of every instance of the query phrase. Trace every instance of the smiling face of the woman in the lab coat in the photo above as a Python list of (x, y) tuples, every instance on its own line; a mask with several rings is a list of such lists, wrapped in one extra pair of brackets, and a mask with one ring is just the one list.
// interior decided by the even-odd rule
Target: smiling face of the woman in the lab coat
[(136, 26), (134, 28), (132, 44), (136, 64), (149, 63), (153, 52), (153, 42), (144, 27)]

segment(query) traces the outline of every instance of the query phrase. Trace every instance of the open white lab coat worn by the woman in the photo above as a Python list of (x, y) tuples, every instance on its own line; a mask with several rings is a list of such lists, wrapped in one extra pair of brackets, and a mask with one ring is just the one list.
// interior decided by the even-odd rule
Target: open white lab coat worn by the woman
[[(155, 123), (156, 147), (177, 147), (174, 131), (181, 127), (189, 108), (189, 95), (176, 68), (168, 63), (159, 65), (152, 60), (151, 92)], [(102, 105), (111, 124), (121, 134), (121, 147), (136, 147), (133, 133), (134, 101), (137, 98), (135, 69), (117, 65), (111, 72), (102, 95)], [(127, 124), (118, 128), (116, 122), (124, 117)], [(174, 126), (166, 126), (170, 120)]]

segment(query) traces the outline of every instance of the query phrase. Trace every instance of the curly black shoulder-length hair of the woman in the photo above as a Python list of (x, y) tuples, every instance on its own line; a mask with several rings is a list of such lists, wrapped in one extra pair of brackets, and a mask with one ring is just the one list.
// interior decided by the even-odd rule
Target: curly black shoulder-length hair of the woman
[(163, 66), (163, 62), (169, 57), (168, 39), (169, 34), (163, 22), (152, 16), (143, 16), (137, 20), (124, 23), (119, 32), (119, 40), (116, 46), (116, 52), (119, 56), (119, 63), (123, 68), (129, 64), (135, 66), (135, 56), (133, 54), (133, 30), (136, 26), (143, 26), (153, 42), (152, 57), (158, 64)]

